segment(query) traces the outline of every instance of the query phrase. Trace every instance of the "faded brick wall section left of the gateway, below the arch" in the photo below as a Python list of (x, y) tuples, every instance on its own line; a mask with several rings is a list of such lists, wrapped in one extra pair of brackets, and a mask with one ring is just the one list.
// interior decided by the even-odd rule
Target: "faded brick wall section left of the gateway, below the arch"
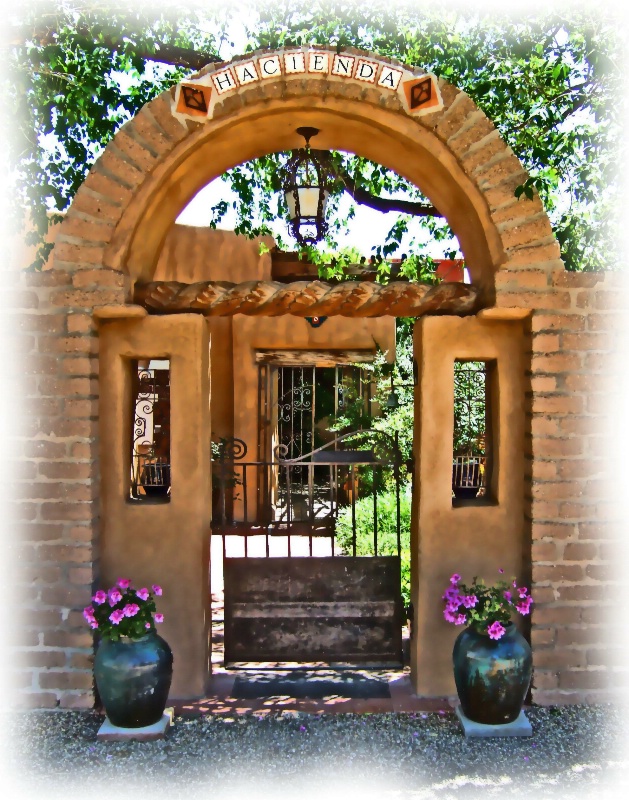
[[(28, 707), (90, 707), (92, 635), (81, 609), (98, 572), (98, 338), (92, 311), (124, 276), (77, 266), (24, 273), (15, 478), (14, 686)], [(17, 423), (17, 420), (16, 420)]]

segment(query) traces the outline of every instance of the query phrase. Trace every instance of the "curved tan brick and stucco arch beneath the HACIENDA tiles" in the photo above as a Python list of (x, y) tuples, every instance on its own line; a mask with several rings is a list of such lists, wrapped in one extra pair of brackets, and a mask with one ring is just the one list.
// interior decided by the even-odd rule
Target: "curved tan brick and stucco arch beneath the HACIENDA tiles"
[[(199, 77), (221, 70), (225, 65), (211, 65)], [(417, 117), (398, 94), (320, 75), (244, 85), (219, 97), (212, 118), (202, 122), (173, 114), (178, 89), (164, 92), (122, 127), (95, 163), (59, 230), (55, 262), (69, 269), (102, 266), (132, 282), (150, 279), (166, 232), (199, 189), (243, 161), (299, 146), (295, 129), (307, 124), (321, 131), (317, 147), (371, 158), (422, 189), (457, 235), (486, 302), (494, 299), (499, 269), (561, 269), (539, 198), (514, 196), (527, 177), (519, 160), (467, 94), (435, 83), (442, 107)]]

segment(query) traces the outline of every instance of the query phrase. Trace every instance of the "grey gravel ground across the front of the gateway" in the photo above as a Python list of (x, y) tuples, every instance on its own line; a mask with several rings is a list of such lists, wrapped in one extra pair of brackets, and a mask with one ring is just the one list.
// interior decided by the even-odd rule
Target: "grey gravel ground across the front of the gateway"
[[(624, 715), (531, 708), (532, 738), (465, 739), (451, 712), (283, 712), (186, 719), (165, 739), (100, 742), (93, 712), (4, 715), (5, 798), (611, 798), (625, 796)], [(11, 776), (11, 778), (9, 778)], [(141, 792), (141, 794), (140, 794)]]

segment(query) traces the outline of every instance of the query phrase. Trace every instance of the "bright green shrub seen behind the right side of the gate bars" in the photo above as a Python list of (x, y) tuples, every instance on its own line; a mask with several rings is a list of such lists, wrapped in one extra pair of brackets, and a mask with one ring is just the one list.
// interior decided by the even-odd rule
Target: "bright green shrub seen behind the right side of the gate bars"
[[(397, 555), (397, 502), (395, 492), (377, 495), (378, 508), (378, 555)], [(373, 497), (362, 497), (356, 501), (356, 555), (374, 555)], [(352, 509), (347, 506), (339, 511), (336, 521), (337, 541), (344, 553), (353, 553)], [(400, 487), (400, 569), (401, 592), (405, 606), (411, 602), (411, 495), (408, 487)]]

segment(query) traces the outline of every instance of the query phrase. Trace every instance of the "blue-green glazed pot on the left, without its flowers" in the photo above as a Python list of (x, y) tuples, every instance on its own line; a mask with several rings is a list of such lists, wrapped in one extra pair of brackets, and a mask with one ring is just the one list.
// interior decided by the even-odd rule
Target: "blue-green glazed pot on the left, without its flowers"
[(162, 718), (173, 674), (173, 654), (156, 633), (101, 641), (94, 657), (96, 688), (113, 725), (142, 728)]

